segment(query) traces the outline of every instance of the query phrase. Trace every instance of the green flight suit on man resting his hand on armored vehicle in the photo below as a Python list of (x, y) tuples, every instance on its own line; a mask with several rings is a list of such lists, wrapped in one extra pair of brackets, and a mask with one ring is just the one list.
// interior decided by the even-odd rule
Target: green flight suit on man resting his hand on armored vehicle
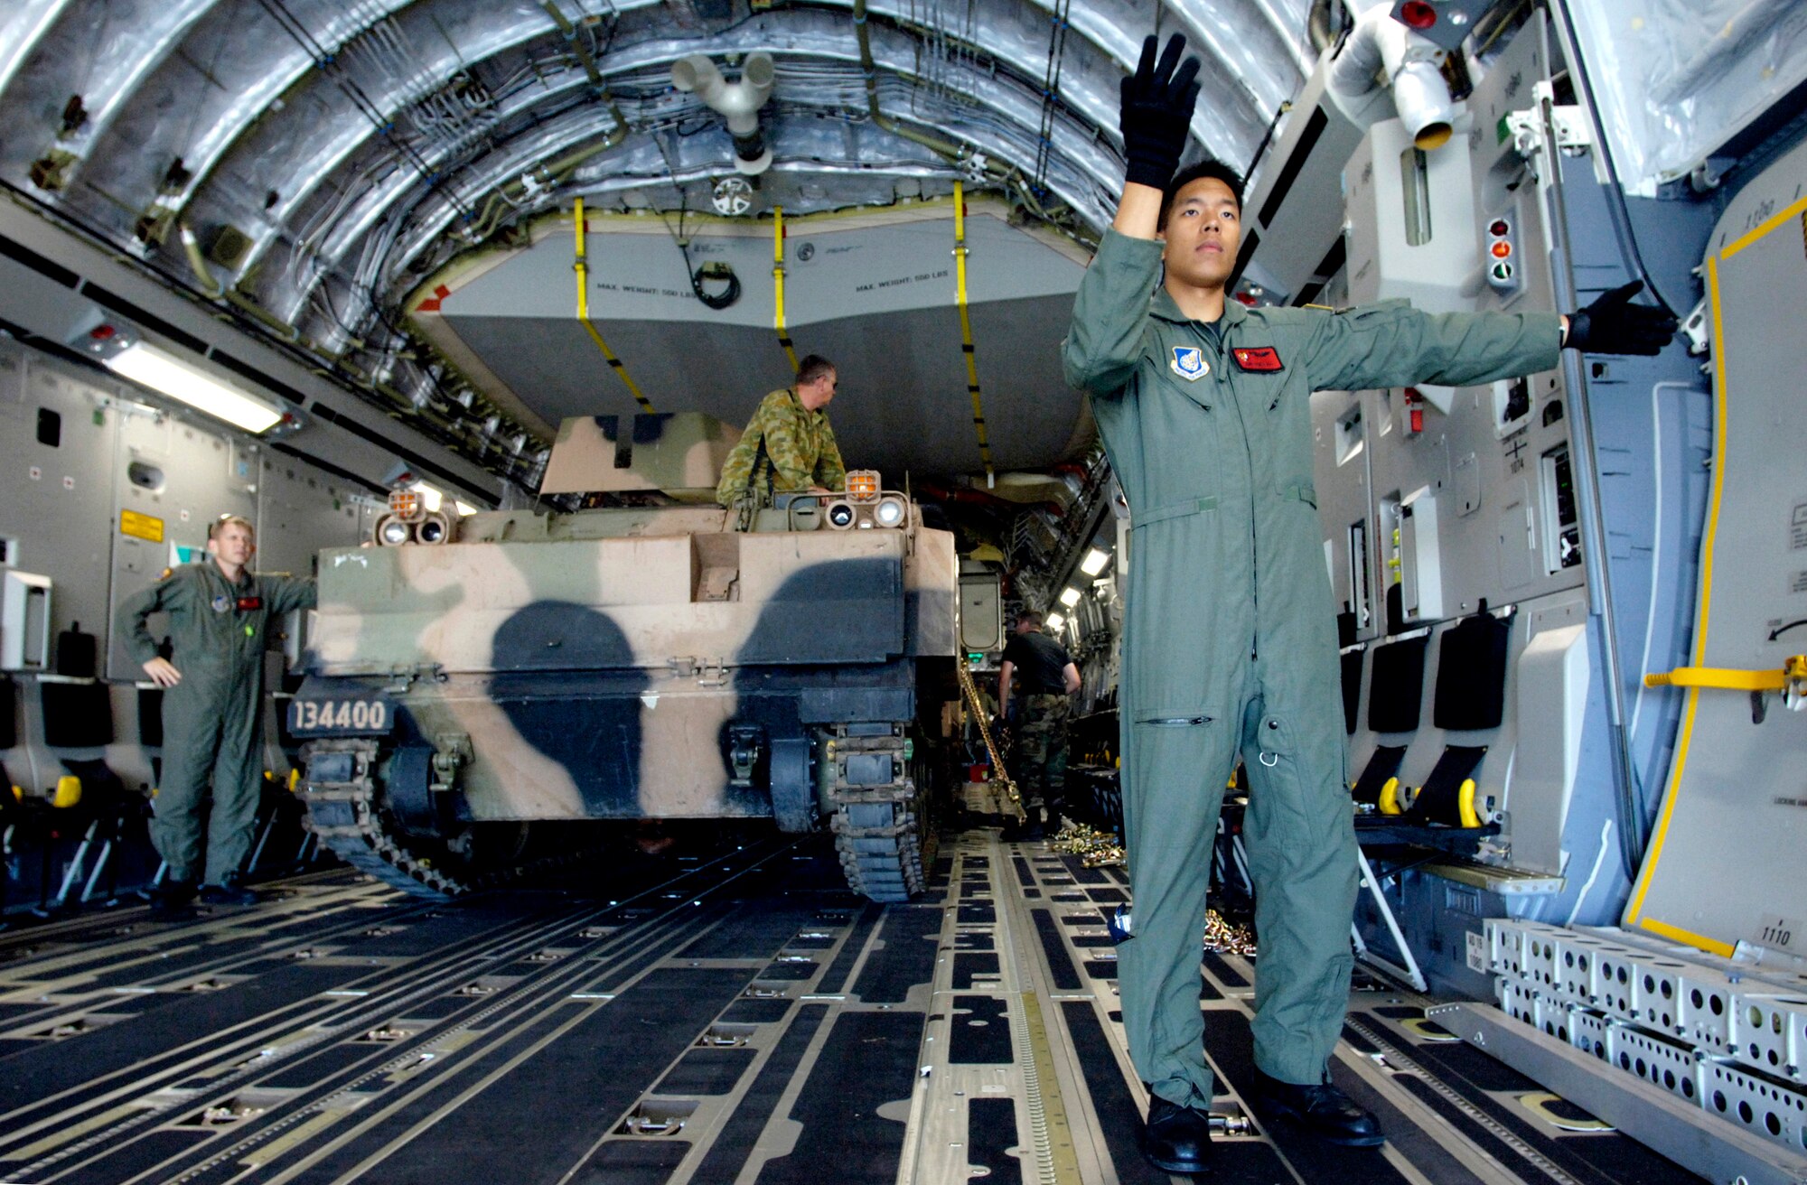
[(163, 775), (150, 820), (170, 880), (193, 882), (201, 871), (201, 804), (210, 777), (206, 882), (217, 885), (244, 863), (264, 780), (264, 630), (271, 616), (313, 605), (313, 580), (244, 573), (233, 583), (210, 558), (168, 569), (119, 607), (116, 625), (139, 665), (157, 658), (150, 614), (168, 614), (170, 661), (183, 672), (163, 694)]

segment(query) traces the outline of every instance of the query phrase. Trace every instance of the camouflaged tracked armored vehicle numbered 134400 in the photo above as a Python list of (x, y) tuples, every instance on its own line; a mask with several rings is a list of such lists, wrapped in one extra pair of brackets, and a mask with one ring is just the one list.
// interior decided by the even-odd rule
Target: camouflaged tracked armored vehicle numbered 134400
[(322, 553), (289, 708), (313, 831), (452, 896), (609, 822), (828, 826), (857, 892), (916, 892), (954, 538), (875, 471), (725, 511), (735, 439), (696, 414), (569, 419), (542, 499), (647, 506), (457, 518), (403, 491), (372, 540)]

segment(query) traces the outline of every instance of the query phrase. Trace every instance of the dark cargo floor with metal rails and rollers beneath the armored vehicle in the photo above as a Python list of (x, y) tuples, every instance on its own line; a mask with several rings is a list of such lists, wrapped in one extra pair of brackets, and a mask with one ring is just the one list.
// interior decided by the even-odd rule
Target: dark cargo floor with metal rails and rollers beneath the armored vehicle
[[(978, 829), (909, 905), (847, 894), (820, 840), (631, 880), (432, 905), (334, 871), (4, 934), (0, 1181), (1169, 1180), (1135, 1149), (1120, 869)], [(1332, 1069), (1388, 1143), (1317, 1147), (1238, 1093), (1250, 981), (1203, 961), (1216, 1109), (1252, 1120), (1212, 1180), (1695, 1180), (1366, 975)]]

